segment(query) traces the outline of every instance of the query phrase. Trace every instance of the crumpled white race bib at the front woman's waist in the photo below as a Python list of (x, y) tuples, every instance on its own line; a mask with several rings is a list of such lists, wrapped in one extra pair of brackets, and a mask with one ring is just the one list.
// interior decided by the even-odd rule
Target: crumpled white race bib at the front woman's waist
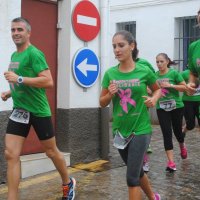
[(117, 132), (114, 137), (113, 146), (117, 149), (125, 149), (133, 137), (134, 134), (131, 134), (129, 137), (124, 138), (120, 132)]

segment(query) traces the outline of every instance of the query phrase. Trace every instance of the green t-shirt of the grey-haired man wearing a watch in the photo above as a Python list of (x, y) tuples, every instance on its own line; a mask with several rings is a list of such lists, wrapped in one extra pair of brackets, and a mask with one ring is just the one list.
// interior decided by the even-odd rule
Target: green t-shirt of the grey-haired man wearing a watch
[[(23, 77), (37, 77), (48, 69), (44, 54), (33, 45), (23, 52), (14, 52), (11, 56), (9, 70)], [(10, 84), (13, 107), (31, 112), (38, 117), (51, 116), (51, 111), (44, 88), (25, 84)]]

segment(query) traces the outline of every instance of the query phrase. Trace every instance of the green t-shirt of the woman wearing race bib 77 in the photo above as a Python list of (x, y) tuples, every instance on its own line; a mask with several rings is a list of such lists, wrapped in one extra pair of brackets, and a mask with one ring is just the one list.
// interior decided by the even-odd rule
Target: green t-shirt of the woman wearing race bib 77
[[(184, 81), (180, 73), (174, 69), (169, 69), (169, 71), (164, 75), (161, 75), (160, 72), (157, 71), (156, 77), (158, 83), (165, 81), (169, 82), (170, 84), (177, 85)], [(156, 104), (157, 109), (166, 108), (164, 110), (170, 111), (170, 109), (182, 108), (183, 106), (184, 105), (179, 95), (179, 91), (175, 90), (174, 88), (162, 88), (162, 97)]]

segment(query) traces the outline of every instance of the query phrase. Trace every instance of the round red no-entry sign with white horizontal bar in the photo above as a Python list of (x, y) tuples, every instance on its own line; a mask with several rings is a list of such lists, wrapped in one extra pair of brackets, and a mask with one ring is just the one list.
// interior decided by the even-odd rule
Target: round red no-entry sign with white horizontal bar
[(73, 11), (72, 24), (81, 40), (93, 40), (100, 30), (100, 15), (95, 5), (88, 0), (79, 2)]

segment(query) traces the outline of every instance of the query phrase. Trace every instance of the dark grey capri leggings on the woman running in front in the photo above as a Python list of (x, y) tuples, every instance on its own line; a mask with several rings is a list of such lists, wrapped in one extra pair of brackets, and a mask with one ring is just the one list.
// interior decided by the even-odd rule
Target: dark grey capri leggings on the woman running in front
[(150, 140), (151, 134), (136, 135), (125, 149), (119, 149), (119, 153), (127, 165), (126, 180), (129, 187), (140, 185), (140, 178), (144, 176), (143, 158)]

